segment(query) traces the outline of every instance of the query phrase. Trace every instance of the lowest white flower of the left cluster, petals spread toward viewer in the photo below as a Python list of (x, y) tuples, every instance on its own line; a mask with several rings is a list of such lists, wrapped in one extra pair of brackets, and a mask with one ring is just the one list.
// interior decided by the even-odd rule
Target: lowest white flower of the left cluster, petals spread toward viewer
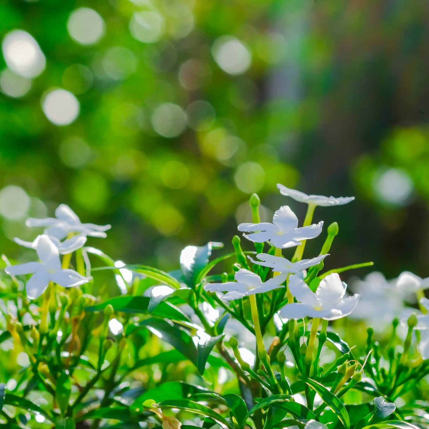
[(27, 262), (5, 268), (9, 275), (33, 274), (26, 285), (28, 298), (35, 299), (42, 295), (50, 281), (63, 287), (73, 287), (90, 280), (73, 269), (61, 268), (58, 248), (46, 234), (39, 236), (36, 251), (41, 262)]

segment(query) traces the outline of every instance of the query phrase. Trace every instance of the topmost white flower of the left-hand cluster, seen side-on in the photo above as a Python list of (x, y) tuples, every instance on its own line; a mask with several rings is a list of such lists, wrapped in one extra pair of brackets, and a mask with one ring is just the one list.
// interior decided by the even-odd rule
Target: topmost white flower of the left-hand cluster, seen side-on
[(55, 218), (29, 218), (27, 227), (47, 227), (45, 234), (59, 240), (65, 239), (69, 233), (81, 233), (91, 237), (106, 238), (110, 225), (82, 224), (76, 213), (66, 204), (60, 204), (55, 210)]

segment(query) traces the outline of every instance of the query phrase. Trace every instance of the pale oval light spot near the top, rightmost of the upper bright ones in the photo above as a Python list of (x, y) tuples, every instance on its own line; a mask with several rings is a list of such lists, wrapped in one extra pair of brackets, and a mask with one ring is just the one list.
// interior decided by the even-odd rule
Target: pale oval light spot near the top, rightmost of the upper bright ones
[(218, 66), (230, 75), (245, 73), (252, 62), (248, 48), (232, 36), (216, 39), (211, 52)]

